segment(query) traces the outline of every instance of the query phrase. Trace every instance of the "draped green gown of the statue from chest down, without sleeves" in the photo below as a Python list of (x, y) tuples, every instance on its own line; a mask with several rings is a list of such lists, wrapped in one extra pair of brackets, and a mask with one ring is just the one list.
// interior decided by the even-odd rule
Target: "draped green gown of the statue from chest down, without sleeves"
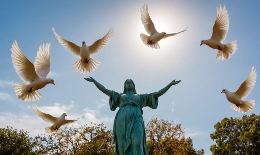
[[(142, 95), (137, 94), (120, 96), (119, 110), (113, 128), (118, 150), (116, 154), (136, 154), (133, 152), (139, 152), (138, 155), (147, 154), (144, 152), (146, 137), (141, 110), (142, 98)], [(138, 147), (135, 142), (138, 142)]]

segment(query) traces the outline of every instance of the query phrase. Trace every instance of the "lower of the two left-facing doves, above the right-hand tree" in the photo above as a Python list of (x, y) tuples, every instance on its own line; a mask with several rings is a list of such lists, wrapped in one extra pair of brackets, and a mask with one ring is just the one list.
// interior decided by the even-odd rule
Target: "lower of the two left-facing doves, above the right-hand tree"
[(248, 94), (255, 86), (256, 76), (257, 76), (256, 69), (254, 69), (254, 67), (251, 67), (250, 74), (245, 79), (245, 81), (241, 84), (241, 86), (238, 88), (237, 91), (230, 92), (226, 89), (223, 89), (221, 91), (221, 93), (224, 92), (226, 94), (226, 98), (228, 99), (229, 102), (235, 104), (230, 106), (231, 109), (237, 112), (246, 113), (251, 111), (255, 107), (255, 100), (243, 101), (243, 99), (246, 96), (248, 96)]

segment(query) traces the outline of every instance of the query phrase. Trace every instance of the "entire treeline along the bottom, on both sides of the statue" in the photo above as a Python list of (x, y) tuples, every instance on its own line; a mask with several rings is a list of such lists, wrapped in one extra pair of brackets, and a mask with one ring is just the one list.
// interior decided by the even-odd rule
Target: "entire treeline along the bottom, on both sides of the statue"
[[(214, 126), (210, 137), (217, 143), (212, 154), (260, 154), (260, 116), (224, 118)], [(145, 124), (148, 154), (204, 154), (193, 148), (192, 139), (185, 138), (180, 124), (152, 118)], [(113, 131), (103, 123), (91, 123), (79, 128), (65, 128), (60, 134), (43, 133), (29, 137), (28, 132), (12, 127), (0, 128), (0, 154), (4, 155), (83, 155), (115, 154)]]

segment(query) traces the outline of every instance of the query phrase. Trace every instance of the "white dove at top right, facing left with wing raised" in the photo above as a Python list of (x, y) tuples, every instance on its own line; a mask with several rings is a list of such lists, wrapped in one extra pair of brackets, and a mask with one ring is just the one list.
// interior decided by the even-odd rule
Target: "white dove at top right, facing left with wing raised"
[(237, 40), (230, 43), (223, 44), (229, 29), (229, 14), (224, 5), (223, 9), (219, 5), (219, 10), (217, 7), (217, 17), (215, 24), (212, 28), (212, 36), (208, 40), (200, 41), (200, 46), (205, 44), (210, 48), (217, 49), (216, 59), (229, 59), (237, 50)]

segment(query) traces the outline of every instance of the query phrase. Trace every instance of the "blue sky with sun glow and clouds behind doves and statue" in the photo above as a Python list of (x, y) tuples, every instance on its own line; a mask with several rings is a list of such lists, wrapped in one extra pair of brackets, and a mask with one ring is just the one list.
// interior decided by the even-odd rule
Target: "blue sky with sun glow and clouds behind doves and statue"
[[(146, 33), (140, 19), (140, 8), (148, 10), (156, 29), (166, 33), (186, 32), (159, 42), (160, 49), (144, 45), (139, 34)], [(230, 28), (224, 43), (237, 40), (238, 50), (225, 61), (215, 59), (216, 50), (200, 41), (209, 39), (216, 18), (216, 6), (226, 5)], [(214, 125), (225, 117), (241, 117), (233, 111), (222, 89), (236, 91), (250, 73), (260, 68), (258, 58), (260, 23), (259, 2), (237, 1), (3, 1), (0, 5), (0, 127), (7, 125), (25, 129), (31, 135), (50, 126), (36, 117), (29, 106), (19, 100), (12, 82), (23, 83), (11, 63), (11, 45), (17, 41), (24, 55), (34, 62), (43, 43), (51, 43), (51, 75), (55, 86), (48, 84), (35, 102), (40, 110), (68, 118), (82, 113), (85, 118), (73, 125), (91, 121), (113, 127), (116, 112), (109, 110), (109, 98), (83, 77), (92, 76), (106, 88), (122, 92), (126, 79), (135, 82), (138, 93), (150, 93), (165, 87), (172, 80), (181, 80), (159, 98), (156, 110), (145, 107), (143, 117), (175, 120), (186, 128), (196, 149), (210, 154)], [(89, 75), (74, 72), (72, 63), (78, 58), (70, 54), (55, 38), (51, 28), (63, 38), (87, 45), (103, 37), (113, 25), (110, 43), (93, 56), (101, 62)], [(255, 99), (259, 114), (258, 82), (245, 100)], [(173, 103), (174, 102), (174, 103)], [(173, 103), (173, 104), (172, 104)], [(172, 111), (173, 108), (173, 111)], [(37, 124), (37, 125), (36, 125)]]

